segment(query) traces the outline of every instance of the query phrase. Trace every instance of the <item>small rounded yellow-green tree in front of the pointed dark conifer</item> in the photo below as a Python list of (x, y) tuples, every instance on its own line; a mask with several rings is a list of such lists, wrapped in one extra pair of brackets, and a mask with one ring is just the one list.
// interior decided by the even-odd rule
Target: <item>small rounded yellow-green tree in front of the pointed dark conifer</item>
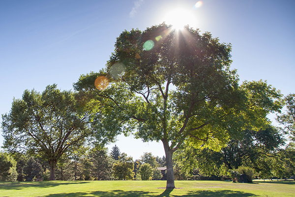
[(127, 157), (126, 153), (121, 153), (118, 162), (114, 164), (113, 174), (118, 180), (133, 180), (135, 175), (133, 169), (133, 158)]

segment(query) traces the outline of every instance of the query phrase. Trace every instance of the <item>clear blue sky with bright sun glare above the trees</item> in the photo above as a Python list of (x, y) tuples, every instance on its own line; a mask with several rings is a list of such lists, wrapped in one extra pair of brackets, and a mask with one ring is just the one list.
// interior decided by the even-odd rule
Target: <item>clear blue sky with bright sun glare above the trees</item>
[[(0, 114), (26, 89), (73, 90), (81, 74), (105, 66), (120, 33), (164, 21), (231, 43), (240, 82), (263, 79), (295, 93), (294, 10), (294, 0), (0, 0)], [(133, 136), (107, 147), (115, 144), (133, 159), (165, 154), (161, 143)]]

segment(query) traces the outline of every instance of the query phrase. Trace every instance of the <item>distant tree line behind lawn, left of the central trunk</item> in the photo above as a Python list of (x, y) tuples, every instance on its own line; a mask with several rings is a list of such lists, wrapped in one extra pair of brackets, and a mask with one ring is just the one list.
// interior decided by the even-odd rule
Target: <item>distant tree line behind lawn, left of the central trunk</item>
[[(66, 153), (56, 167), (56, 180), (159, 180), (165, 157), (154, 157), (144, 153), (133, 161), (126, 153), (120, 153), (115, 145), (111, 153), (106, 148), (81, 147), (83, 154)], [(119, 153), (114, 159), (114, 150)], [(115, 157), (117, 158), (117, 157)], [(0, 153), (0, 181), (33, 181), (50, 179), (48, 161), (28, 153)]]

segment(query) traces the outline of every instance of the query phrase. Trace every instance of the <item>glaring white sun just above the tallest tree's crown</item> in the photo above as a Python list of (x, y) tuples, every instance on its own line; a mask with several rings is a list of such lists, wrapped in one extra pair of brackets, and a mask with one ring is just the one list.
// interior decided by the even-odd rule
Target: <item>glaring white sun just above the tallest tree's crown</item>
[(166, 14), (164, 21), (167, 25), (172, 25), (173, 28), (180, 30), (186, 25), (193, 26), (195, 17), (188, 9), (176, 8)]

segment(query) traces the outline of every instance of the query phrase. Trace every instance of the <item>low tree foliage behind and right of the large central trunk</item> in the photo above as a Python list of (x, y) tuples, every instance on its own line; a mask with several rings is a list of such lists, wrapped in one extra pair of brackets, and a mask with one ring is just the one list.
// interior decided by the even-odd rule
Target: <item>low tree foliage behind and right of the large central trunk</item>
[(175, 161), (186, 175), (191, 175), (195, 168), (199, 168), (200, 172), (207, 176), (227, 175), (228, 170), (245, 165), (267, 178), (273, 171), (273, 162), (270, 161), (279, 158), (282, 145), (284, 139), (276, 128), (245, 130), (239, 139), (231, 139), (219, 151), (193, 147), (179, 149)]

